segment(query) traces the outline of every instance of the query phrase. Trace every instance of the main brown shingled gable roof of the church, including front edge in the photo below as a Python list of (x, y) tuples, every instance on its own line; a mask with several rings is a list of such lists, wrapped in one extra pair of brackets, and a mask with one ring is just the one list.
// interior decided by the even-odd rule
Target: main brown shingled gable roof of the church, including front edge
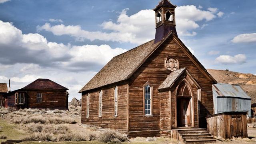
[(123, 54), (115, 56), (104, 66), (100, 72), (98, 72), (79, 92), (84, 92), (116, 82), (128, 80), (136, 70), (147, 60), (147, 58), (169, 37), (174, 37), (182, 44), (182, 46), (188, 52), (188, 55), (196, 62), (198, 68), (208, 76), (210, 80), (217, 83), (216, 80), (207, 72), (202, 64), (196, 59), (194, 55), (186, 48), (175, 34), (170, 31), (160, 42), (154, 44), (154, 40), (146, 42), (132, 50), (129, 50)]

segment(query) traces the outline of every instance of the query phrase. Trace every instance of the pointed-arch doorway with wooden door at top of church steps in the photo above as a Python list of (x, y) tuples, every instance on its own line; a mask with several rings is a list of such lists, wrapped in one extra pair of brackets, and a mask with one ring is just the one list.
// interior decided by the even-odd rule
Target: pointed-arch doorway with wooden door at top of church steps
[(176, 114), (178, 127), (192, 126), (192, 91), (185, 80), (176, 89)]

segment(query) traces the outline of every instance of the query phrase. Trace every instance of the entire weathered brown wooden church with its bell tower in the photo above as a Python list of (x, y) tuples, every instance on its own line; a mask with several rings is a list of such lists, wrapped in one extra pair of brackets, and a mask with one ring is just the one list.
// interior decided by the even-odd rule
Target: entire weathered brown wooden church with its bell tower
[(210, 138), (203, 128), (214, 114), (217, 82), (178, 38), (175, 8), (161, 0), (154, 9), (155, 39), (115, 56), (80, 90), (83, 124), (129, 137), (177, 138), (190, 128)]

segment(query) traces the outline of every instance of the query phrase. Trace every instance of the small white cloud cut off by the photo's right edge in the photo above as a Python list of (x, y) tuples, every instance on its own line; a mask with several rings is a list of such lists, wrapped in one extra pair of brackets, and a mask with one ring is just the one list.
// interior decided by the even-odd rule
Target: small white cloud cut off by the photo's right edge
[(251, 34), (240, 34), (236, 37), (234, 37), (233, 40), (231, 40), (234, 43), (249, 43), (249, 42), (256, 42), (256, 33)]

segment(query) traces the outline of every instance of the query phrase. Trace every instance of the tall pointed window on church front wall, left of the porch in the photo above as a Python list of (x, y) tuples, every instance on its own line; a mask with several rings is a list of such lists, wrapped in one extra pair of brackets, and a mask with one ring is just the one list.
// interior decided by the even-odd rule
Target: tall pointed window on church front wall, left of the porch
[(144, 115), (152, 115), (152, 86), (146, 83), (144, 86)]

